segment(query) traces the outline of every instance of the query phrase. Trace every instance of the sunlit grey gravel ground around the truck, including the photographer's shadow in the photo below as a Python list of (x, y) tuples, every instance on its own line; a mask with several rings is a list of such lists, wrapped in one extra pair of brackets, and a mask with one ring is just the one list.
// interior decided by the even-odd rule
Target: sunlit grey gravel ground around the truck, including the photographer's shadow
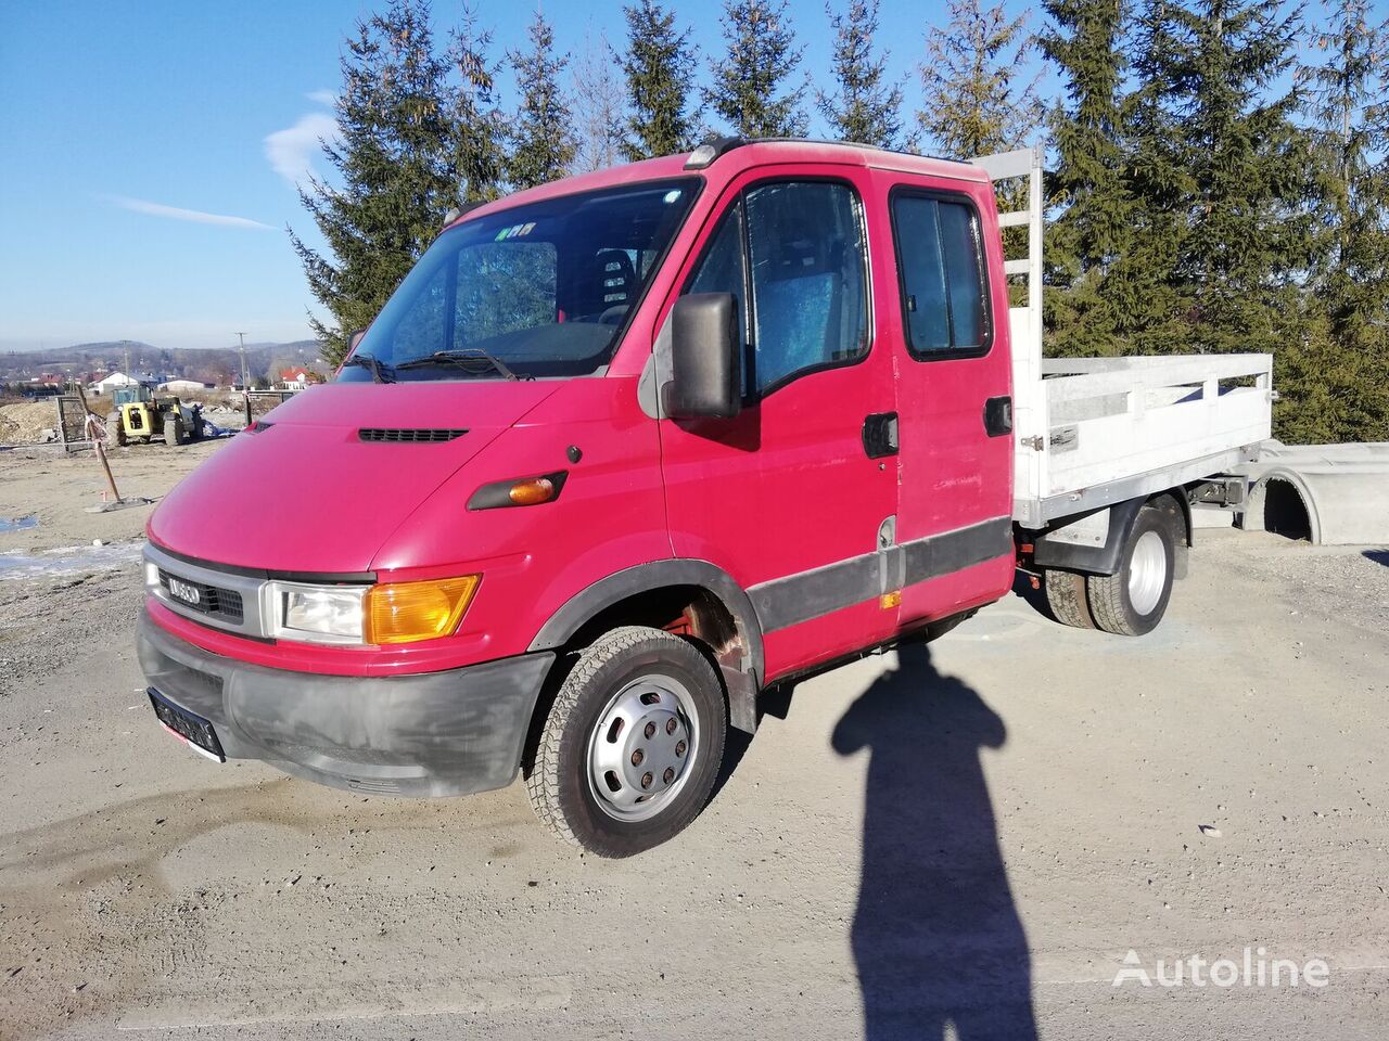
[[(1139, 640), (1011, 597), (771, 698), (694, 826), (614, 863), (519, 786), (188, 754), (135, 661), (147, 509), (71, 515), (94, 465), (0, 457), (0, 516), (40, 518), (0, 534), (7, 1041), (1389, 1035), (1383, 550), (1201, 533)], [(1329, 983), (1113, 985), (1246, 947)]]

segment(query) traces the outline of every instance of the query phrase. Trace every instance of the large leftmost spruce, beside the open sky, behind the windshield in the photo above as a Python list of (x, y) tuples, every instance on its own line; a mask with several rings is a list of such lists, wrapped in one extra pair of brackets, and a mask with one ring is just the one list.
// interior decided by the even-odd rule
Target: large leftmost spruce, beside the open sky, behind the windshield
[(342, 58), (340, 143), (324, 144), (338, 185), (313, 179), (300, 200), (328, 243), (290, 243), (314, 298), (324, 358), (336, 364), (435, 239), (457, 201), (447, 64), (433, 53), (426, 0), (393, 0), (358, 22)]

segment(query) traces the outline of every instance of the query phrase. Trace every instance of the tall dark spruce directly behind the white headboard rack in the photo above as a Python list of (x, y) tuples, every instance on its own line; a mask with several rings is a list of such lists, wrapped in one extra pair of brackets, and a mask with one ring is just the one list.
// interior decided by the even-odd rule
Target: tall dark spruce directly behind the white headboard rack
[(1047, 0), (1038, 46), (1063, 76), (1047, 119), (1054, 167), (1046, 232), (1047, 351), (1118, 354), (1124, 315), (1115, 307), (1114, 265), (1131, 246), (1133, 203), (1125, 183), (1122, 42), (1125, 0)]

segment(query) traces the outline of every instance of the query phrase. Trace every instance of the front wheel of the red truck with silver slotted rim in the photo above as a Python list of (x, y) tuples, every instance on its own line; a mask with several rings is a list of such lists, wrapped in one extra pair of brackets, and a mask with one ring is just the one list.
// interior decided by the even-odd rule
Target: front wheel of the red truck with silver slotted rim
[(526, 775), (531, 805), (599, 856), (643, 852), (704, 809), (726, 730), (722, 684), (693, 644), (660, 629), (614, 629), (556, 694)]

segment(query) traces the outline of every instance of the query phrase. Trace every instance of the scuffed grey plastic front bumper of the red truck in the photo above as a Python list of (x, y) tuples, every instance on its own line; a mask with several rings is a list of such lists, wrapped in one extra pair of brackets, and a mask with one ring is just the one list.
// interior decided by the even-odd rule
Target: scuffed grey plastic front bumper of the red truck
[(211, 654), (139, 622), (140, 668), (217, 727), (232, 759), (381, 795), (464, 795), (515, 777), (554, 652), (413, 676), (321, 676)]

